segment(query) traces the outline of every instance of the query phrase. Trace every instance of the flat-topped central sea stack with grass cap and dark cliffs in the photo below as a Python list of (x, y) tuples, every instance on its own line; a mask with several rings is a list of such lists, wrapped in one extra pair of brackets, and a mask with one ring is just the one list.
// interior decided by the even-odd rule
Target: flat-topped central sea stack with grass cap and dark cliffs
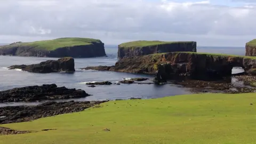
[(196, 42), (133, 41), (118, 45), (118, 58), (165, 52), (196, 52)]

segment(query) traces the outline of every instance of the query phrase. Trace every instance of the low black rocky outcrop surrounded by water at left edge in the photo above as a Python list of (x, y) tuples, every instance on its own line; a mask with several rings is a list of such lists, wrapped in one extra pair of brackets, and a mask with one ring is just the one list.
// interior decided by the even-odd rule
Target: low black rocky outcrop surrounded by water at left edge
[(42, 86), (26, 86), (11, 90), (0, 91), (0, 102), (33, 102), (44, 100), (59, 100), (71, 98), (84, 98), (89, 96), (84, 90), (68, 89), (55, 84)]

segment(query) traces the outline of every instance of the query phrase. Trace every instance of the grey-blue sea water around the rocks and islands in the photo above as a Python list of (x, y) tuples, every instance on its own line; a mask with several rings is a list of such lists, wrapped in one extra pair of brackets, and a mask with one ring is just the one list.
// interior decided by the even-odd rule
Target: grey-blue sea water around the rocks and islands
[[(37, 58), (37, 57), (16, 57), (0, 55), (0, 91), (13, 89), (15, 87), (57, 84), (57, 86), (66, 86), (68, 88), (82, 89), (86, 93), (92, 94), (90, 97), (75, 99), (76, 101), (91, 100), (114, 100), (129, 98), (161, 98), (172, 95), (190, 94), (188, 88), (175, 84), (154, 85), (154, 84), (121, 84), (121, 85), (97, 85), (88, 87), (88, 82), (110, 81), (116, 83), (122, 79), (135, 77), (147, 77), (153, 79), (153, 76), (119, 73), (113, 71), (79, 70), (88, 66), (113, 66), (117, 61), (117, 45), (105, 45), (107, 57), (98, 58), (75, 58), (76, 72), (68, 73), (50, 73), (37, 74), (21, 71), (20, 69), (9, 70), (7, 67), (12, 65), (29, 65), (46, 60), (57, 60), (58, 58)], [(244, 47), (211, 47), (198, 46), (198, 52), (224, 53), (245, 55)], [(243, 69), (234, 68), (233, 73), (241, 73)], [(148, 80), (150, 82), (150, 80)], [(37, 105), (39, 102), (18, 102), (18, 103), (0, 103), (3, 106), (18, 105)]]

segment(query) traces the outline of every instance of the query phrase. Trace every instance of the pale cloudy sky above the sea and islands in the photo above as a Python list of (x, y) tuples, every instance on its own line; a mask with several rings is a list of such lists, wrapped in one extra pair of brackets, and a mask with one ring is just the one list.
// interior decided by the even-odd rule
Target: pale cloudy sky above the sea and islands
[(256, 0), (1, 0), (0, 43), (90, 37), (245, 46), (256, 38)]

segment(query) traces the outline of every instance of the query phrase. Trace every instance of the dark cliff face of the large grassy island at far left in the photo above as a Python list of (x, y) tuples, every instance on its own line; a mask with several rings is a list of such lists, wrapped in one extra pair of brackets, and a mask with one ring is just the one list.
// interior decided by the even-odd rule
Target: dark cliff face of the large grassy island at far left
[(36, 49), (31, 46), (7, 45), (0, 46), (0, 55), (18, 55), (22, 57), (73, 57), (73, 58), (90, 58), (105, 56), (103, 43), (93, 43), (91, 45), (78, 45), (69, 47), (60, 47), (56, 50), (47, 51)]

